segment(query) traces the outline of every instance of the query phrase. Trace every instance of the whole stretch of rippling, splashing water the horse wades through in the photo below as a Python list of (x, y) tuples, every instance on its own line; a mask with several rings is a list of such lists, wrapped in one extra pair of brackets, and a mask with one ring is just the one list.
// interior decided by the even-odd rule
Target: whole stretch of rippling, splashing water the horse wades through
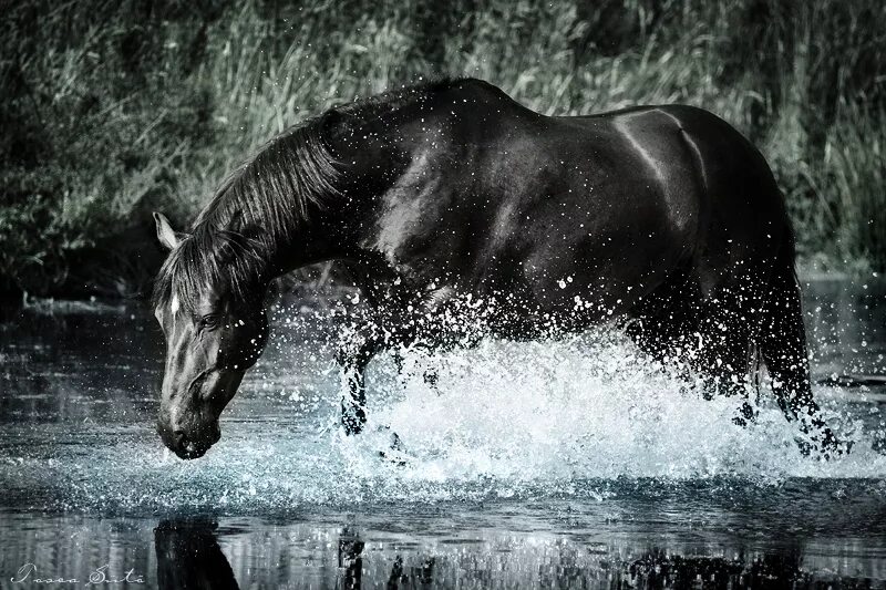
[[(886, 374), (886, 286), (806, 293), (816, 381)], [(295, 306), (274, 323), (222, 441), (182, 462), (153, 427), (150, 312), (8, 311), (0, 587), (886, 587), (875, 380), (816, 385), (855, 441), (823, 463), (765, 392), (736, 427), (734, 401), (701, 400), (604, 329), (412, 352), (401, 373), (381, 358), (368, 433), (346, 438), (330, 321)], [(405, 465), (379, 457), (388, 427)]]

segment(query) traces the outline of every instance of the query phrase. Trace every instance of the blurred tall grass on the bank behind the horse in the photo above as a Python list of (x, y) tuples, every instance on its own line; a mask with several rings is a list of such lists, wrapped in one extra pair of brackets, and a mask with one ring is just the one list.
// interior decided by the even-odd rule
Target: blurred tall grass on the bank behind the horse
[(882, 0), (0, 0), (0, 13), (2, 294), (145, 292), (163, 257), (151, 210), (184, 226), (270, 135), (441, 74), (548, 114), (707, 107), (770, 159), (805, 263), (886, 267)]

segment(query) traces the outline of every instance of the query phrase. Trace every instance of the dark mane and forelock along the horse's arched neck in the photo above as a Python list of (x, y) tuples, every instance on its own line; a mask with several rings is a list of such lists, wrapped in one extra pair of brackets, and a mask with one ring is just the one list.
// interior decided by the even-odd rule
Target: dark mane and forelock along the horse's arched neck
[[(192, 234), (169, 253), (154, 283), (154, 304), (176, 297), (193, 312), (198, 294), (223, 279), (233, 292), (247, 293), (250, 282), (268, 272), (270, 248), (308, 221), (312, 208), (340, 195), (341, 169), (327, 139), (334, 115), (377, 118), (455, 82), (435, 80), (336, 106), (271, 138), (225, 178)], [(235, 217), (260, 230), (253, 235), (229, 228)]]

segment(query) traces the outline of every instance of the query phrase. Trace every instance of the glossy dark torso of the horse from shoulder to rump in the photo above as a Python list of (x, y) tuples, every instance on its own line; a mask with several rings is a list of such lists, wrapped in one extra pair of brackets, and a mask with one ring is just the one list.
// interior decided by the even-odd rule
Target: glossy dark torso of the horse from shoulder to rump
[(681, 268), (728, 272), (782, 235), (762, 156), (700, 108), (548, 117), (468, 80), (410, 116), (375, 242), (459, 290), (617, 314)]

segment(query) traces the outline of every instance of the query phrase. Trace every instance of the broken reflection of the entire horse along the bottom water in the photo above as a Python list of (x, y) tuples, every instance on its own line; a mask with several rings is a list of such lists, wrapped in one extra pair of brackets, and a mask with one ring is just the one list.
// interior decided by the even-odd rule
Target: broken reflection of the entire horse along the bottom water
[[(638, 557), (620, 559), (610, 555), (596, 558), (569, 544), (537, 545), (526, 539), (529, 551), (524, 553), (511, 544), (505, 552), (515, 552), (516, 562), (495, 558), (503, 549), (485, 547), (465, 551), (464, 548), (437, 547), (437, 555), (420, 557), (424, 549), (412, 551), (405, 563), (403, 547), (395, 544), (367, 555), (367, 542), (349, 519), (338, 536), (338, 571), (334, 588), (359, 590), (363, 587), (389, 590), (406, 588), (449, 587), (545, 587), (545, 588), (700, 588), (700, 589), (780, 589), (830, 588), (856, 582), (869, 588), (870, 580), (843, 580), (833, 576), (813, 576), (804, 571), (800, 545), (754, 553), (740, 550), (732, 558), (693, 556), (649, 549)], [(238, 588), (228, 559), (218, 541), (218, 526), (212, 518), (163, 520), (154, 529), (157, 556), (157, 584), (161, 589), (231, 589)], [(315, 531), (316, 532), (316, 531)], [(260, 553), (260, 548), (254, 548)], [(235, 551), (236, 552), (236, 551)], [(485, 557), (483, 557), (485, 553)], [(534, 555), (533, 555), (534, 553)], [(473, 556), (473, 557), (472, 557)], [(286, 558), (286, 555), (278, 556)], [(540, 557), (540, 559), (539, 559)], [(320, 567), (322, 570), (323, 568)], [(280, 569), (240, 568), (245, 587), (276, 584), (310, 586), (315, 576), (297, 572), (301, 579), (286, 579)], [(330, 580), (317, 580), (327, 587)]]

